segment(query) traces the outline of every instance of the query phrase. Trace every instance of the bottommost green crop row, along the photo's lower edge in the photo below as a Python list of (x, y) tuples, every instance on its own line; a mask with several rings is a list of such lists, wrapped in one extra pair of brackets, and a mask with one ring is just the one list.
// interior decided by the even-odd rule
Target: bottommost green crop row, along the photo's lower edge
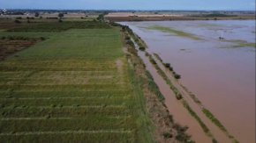
[(3, 142), (134, 142), (132, 132), (41, 132), (27, 135), (0, 135)]

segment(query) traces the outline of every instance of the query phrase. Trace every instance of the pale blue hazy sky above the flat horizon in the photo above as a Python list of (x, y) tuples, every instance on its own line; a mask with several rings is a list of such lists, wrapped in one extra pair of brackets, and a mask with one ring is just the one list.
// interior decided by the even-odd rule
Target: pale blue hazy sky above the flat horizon
[(5, 9), (255, 10), (255, 0), (0, 0)]

